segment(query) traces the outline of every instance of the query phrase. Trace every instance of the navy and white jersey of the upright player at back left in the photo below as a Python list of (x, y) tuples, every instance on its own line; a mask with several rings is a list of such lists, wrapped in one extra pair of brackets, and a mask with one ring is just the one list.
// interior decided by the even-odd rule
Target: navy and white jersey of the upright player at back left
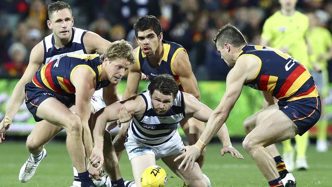
[(60, 49), (56, 49), (54, 46), (55, 40), (53, 33), (46, 36), (43, 39), (44, 43), (44, 59), (43, 64), (47, 64), (55, 59), (67, 55), (81, 55), (86, 54), (86, 50), (83, 44), (83, 37), (87, 33), (87, 30), (72, 28), (72, 39)]

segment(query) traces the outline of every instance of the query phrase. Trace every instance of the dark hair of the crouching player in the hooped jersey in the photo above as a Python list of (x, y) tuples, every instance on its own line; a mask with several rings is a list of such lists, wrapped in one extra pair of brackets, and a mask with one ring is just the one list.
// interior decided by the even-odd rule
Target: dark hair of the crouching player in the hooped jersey
[(153, 94), (154, 90), (158, 90), (163, 95), (172, 95), (173, 98), (175, 98), (179, 91), (179, 86), (175, 82), (173, 76), (162, 74), (158, 75), (150, 81), (148, 90), (150, 95)]

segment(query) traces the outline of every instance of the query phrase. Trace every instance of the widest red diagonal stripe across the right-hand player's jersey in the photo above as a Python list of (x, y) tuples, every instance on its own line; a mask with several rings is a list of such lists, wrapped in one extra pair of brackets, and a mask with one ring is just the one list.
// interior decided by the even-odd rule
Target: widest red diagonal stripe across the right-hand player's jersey
[(305, 72), (304, 66), (303, 65), (297, 66), (280, 87), (278, 94), (276, 95), (276, 98), (278, 99), (286, 95), (287, 91), (290, 89), (290, 87), (293, 85), (296, 79), (302, 75), (303, 72)]

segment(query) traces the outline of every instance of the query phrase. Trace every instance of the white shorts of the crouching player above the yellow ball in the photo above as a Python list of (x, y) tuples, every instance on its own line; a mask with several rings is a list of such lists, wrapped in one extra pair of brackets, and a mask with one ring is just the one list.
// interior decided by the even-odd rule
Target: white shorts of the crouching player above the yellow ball
[(129, 160), (136, 156), (144, 154), (152, 154), (155, 156), (156, 160), (158, 160), (159, 158), (165, 156), (180, 154), (184, 144), (182, 142), (182, 138), (179, 132), (176, 131), (173, 137), (168, 142), (163, 143), (159, 146), (149, 146), (137, 142), (132, 136), (128, 136), (125, 146)]

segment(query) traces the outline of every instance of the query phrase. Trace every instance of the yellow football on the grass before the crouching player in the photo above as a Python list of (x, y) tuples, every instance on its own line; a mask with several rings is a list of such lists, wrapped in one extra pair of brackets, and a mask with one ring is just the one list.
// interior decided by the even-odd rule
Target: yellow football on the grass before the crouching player
[(166, 181), (166, 171), (160, 166), (148, 167), (140, 177), (140, 184), (143, 187), (163, 187)]

